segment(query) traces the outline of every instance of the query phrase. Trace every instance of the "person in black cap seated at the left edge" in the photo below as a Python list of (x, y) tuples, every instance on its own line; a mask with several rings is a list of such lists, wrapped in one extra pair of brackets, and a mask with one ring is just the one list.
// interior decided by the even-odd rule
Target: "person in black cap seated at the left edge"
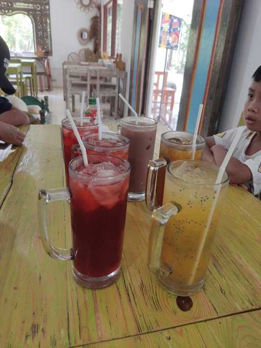
[[(0, 36), (0, 88), (6, 94), (14, 94), (15, 89), (6, 76), (9, 62), (9, 48)], [(14, 145), (21, 145), (24, 134), (16, 126), (22, 124), (29, 124), (27, 114), (15, 108), (5, 97), (0, 97), (0, 140)]]

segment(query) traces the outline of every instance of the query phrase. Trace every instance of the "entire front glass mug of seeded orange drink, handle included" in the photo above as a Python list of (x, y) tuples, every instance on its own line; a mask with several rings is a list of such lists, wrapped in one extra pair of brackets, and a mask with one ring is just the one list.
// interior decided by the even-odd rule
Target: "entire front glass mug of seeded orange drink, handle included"
[[(165, 159), (149, 163), (154, 172), (166, 165)], [(229, 182), (224, 173), (216, 184), (218, 171), (214, 164), (192, 160), (178, 160), (166, 168), (163, 206), (152, 213), (148, 266), (175, 295), (195, 295), (204, 284)], [(147, 182), (149, 192), (155, 179), (156, 175)]]

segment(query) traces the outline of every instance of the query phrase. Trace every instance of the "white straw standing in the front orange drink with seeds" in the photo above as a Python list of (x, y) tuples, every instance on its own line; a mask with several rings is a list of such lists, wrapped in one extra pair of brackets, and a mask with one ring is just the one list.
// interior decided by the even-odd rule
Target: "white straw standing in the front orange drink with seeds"
[[(234, 139), (233, 139), (233, 141), (232, 141), (232, 143), (231, 143), (231, 145), (230, 145), (230, 147), (229, 147), (229, 149), (227, 151), (227, 154), (225, 155), (225, 158), (223, 159), (222, 165), (220, 166), (215, 185), (218, 185), (218, 184), (221, 183), (223, 175), (224, 175), (225, 170), (226, 170), (226, 166), (227, 166), (227, 164), (229, 162), (230, 157), (232, 156), (232, 154), (234, 152), (234, 149), (236, 148), (236, 146), (237, 146), (237, 144), (239, 142), (239, 139), (240, 139), (240, 137), (242, 135), (243, 130), (244, 130), (244, 128), (242, 127), (242, 130), (239, 131), (236, 134), (236, 136), (234, 137)], [(203, 251), (203, 248), (204, 248), (204, 245), (205, 245), (207, 232), (208, 232), (208, 229), (210, 228), (210, 224), (211, 224), (211, 221), (212, 221), (212, 217), (213, 217), (213, 214), (214, 214), (215, 207), (216, 207), (217, 202), (218, 202), (220, 191), (221, 191), (221, 185), (217, 189), (215, 198), (214, 198), (214, 200), (212, 202), (210, 215), (208, 216), (208, 219), (207, 219), (204, 231), (203, 231), (202, 240), (201, 240), (201, 243), (200, 243), (200, 246), (199, 246), (199, 249), (198, 249), (198, 253), (197, 253), (197, 256), (196, 256), (196, 262), (194, 264), (194, 267), (193, 267), (193, 270), (192, 270), (192, 273), (191, 273), (189, 285), (191, 285), (193, 283), (194, 278), (195, 278), (195, 274), (196, 274), (196, 271), (197, 271), (197, 268), (198, 268), (198, 264), (199, 264), (199, 261), (201, 259), (201, 254), (202, 254), (202, 251)]]

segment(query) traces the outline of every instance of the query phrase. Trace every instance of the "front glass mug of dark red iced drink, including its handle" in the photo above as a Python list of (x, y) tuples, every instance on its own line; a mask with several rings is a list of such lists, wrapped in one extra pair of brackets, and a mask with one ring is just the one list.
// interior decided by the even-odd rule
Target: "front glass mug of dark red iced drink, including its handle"
[[(39, 190), (38, 221), (46, 253), (73, 260), (75, 281), (95, 289), (111, 285), (120, 274), (131, 168), (126, 160), (107, 154), (89, 155), (88, 161), (84, 167), (82, 156), (71, 160), (70, 191)], [(57, 248), (49, 240), (46, 206), (58, 200), (70, 201), (71, 249)]]

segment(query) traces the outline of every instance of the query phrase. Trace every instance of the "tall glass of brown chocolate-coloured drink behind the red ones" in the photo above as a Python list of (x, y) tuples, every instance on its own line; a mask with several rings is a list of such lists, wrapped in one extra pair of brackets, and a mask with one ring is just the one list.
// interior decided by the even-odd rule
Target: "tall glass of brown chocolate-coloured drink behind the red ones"
[(129, 163), (131, 178), (129, 180), (128, 200), (139, 201), (145, 198), (148, 162), (153, 157), (157, 122), (152, 118), (135, 117), (121, 120), (121, 135), (129, 139)]

